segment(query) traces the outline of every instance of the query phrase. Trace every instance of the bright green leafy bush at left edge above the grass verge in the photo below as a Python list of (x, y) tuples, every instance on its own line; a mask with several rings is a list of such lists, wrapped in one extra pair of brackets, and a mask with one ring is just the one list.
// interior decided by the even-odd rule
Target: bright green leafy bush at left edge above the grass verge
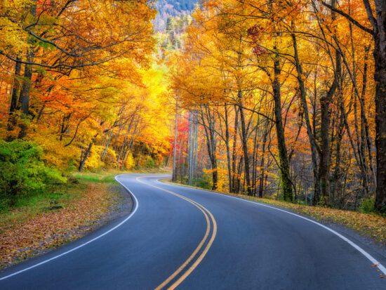
[(65, 183), (60, 172), (41, 161), (43, 150), (24, 140), (0, 140), (0, 197), (14, 203), (18, 195), (44, 190), (46, 185)]

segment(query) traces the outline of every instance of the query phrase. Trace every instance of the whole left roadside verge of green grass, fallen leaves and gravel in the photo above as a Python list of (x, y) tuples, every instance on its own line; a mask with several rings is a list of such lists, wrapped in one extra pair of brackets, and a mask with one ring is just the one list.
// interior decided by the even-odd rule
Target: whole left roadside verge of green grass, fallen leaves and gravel
[(18, 206), (0, 213), (0, 269), (84, 237), (130, 213), (131, 196), (114, 176), (133, 172), (137, 171), (73, 173), (65, 185), (22, 198)]

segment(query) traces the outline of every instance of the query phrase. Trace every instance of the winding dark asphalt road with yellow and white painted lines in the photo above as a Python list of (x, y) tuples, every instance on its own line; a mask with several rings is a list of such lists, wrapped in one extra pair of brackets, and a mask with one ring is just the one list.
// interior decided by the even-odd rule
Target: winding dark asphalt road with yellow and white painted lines
[(1, 272), (0, 289), (386, 289), (385, 256), (360, 239), (161, 177), (118, 176), (130, 216)]

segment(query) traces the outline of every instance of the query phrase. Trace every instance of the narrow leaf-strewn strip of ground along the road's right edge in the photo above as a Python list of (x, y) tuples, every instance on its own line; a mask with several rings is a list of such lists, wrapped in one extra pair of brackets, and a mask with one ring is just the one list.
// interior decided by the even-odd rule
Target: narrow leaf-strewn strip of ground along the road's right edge
[[(200, 187), (194, 187), (185, 185), (182, 183), (172, 183), (171, 179), (160, 180), (164, 183), (170, 183), (175, 185), (182, 185), (186, 187), (197, 188), (200, 190), (206, 190)], [(213, 190), (206, 190), (213, 191)], [(331, 209), (321, 206), (305, 206), (302, 204), (292, 204), (290, 202), (284, 202), (275, 199), (259, 198), (259, 197), (248, 197), (248, 195), (236, 195), (228, 192), (218, 192), (223, 195), (232, 195), (242, 199), (249, 199), (255, 202), (261, 202), (264, 204), (270, 204), (283, 209), (289, 209), (294, 213), (300, 213), (303, 216), (310, 216), (315, 220), (319, 220), (322, 223), (343, 225), (350, 228), (354, 232), (358, 233), (363, 237), (368, 237), (371, 242), (375, 242), (382, 249), (386, 249), (386, 218), (379, 216), (375, 213), (361, 213), (357, 211), (344, 211), (340, 209)]]

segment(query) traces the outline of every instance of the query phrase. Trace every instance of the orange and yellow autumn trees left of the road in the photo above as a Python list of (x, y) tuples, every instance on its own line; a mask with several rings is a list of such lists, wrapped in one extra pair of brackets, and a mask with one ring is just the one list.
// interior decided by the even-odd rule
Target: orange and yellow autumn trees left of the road
[(151, 1), (2, 1), (1, 138), (33, 140), (62, 170), (167, 162), (156, 13)]

